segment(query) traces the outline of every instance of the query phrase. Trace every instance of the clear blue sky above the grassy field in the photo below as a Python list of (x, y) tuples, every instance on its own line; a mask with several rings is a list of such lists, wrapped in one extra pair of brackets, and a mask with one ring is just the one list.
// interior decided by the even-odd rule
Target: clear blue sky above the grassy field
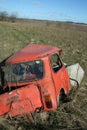
[(87, 24), (87, 0), (0, 0), (0, 11), (21, 18)]

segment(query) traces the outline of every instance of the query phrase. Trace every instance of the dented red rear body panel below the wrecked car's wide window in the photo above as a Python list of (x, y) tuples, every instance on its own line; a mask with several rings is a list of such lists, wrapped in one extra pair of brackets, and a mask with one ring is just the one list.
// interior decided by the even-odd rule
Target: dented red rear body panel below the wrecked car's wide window
[(0, 95), (0, 115), (16, 115), (29, 113), (41, 107), (40, 93), (36, 85), (19, 88)]

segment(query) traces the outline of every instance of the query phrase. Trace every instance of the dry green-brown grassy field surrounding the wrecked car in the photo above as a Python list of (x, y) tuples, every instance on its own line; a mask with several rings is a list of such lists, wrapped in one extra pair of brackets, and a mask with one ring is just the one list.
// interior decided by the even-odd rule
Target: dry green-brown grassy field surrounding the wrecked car
[(0, 61), (32, 43), (62, 48), (63, 61), (69, 65), (80, 63), (85, 71), (84, 79), (75, 100), (62, 104), (54, 112), (48, 112), (47, 120), (38, 119), (34, 125), (24, 118), (16, 121), (0, 118), (0, 129), (85, 130), (87, 128), (87, 26), (34, 20), (0, 22)]

